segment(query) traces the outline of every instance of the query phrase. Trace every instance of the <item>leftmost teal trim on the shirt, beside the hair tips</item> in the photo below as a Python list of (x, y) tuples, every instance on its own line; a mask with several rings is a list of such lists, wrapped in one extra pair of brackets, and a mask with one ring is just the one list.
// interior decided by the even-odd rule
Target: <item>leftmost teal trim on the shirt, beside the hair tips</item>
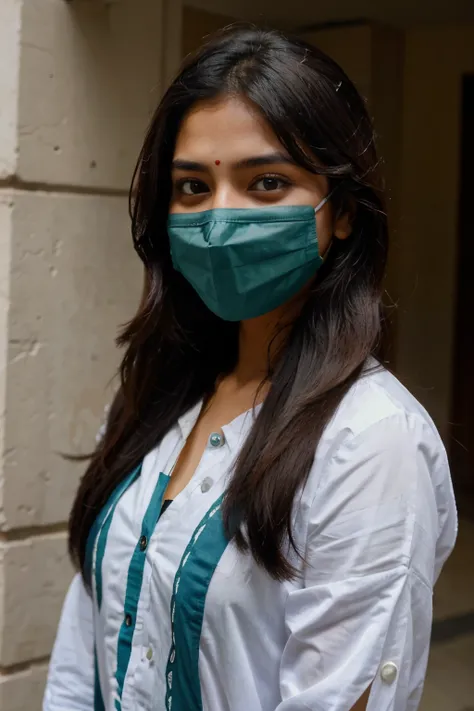
[[(102, 563), (104, 560), (105, 548), (107, 545), (107, 536), (109, 534), (110, 524), (115, 512), (115, 508), (123, 496), (125, 491), (133, 484), (140, 476), (142, 465), (140, 464), (133, 470), (120, 484), (114, 489), (112, 495), (107, 501), (97, 516), (94, 524), (89, 532), (86, 544), (86, 556), (84, 570), (86, 580), (92, 586), (94, 549), (96, 548), (95, 559), (95, 591), (97, 607), (100, 612), (102, 606)], [(97, 542), (97, 547), (96, 547)], [(100, 688), (99, 664), (97, 659), (97, 645), (94, 643), (94, 711), (105, 711), (104, 699), (102, 697), (102, 689)]]

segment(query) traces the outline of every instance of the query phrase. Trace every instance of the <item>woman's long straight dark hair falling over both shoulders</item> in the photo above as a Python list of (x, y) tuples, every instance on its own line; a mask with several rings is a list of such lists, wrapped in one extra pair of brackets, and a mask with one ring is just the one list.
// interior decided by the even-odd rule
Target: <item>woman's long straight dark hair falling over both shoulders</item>
[(239, 325), (212, 314), (174, 271), (166, 228), (183, 117), (197, 102), (226, 95), (253, 102), (290, 156), (328, 177), (334, 214), (353, 216), (351, 236), (334, 240), (269, 371), (268, 395), (225, 495), (229, 534), (276, 579), (294, 574), (287, 543), (294, 545), (295, 495), (325, 426), (380, 337), (388, 235), (364, 100), (313, 46), (275, 31), (221, 32), (184, 62), (138, 159), (131, 216), (145, 286), (137, 315), (118, 339), (126, 347), (121, 387), (71, 513), (70, 552), (83, 572), (90, 528), (113, 489), (237, 362)]

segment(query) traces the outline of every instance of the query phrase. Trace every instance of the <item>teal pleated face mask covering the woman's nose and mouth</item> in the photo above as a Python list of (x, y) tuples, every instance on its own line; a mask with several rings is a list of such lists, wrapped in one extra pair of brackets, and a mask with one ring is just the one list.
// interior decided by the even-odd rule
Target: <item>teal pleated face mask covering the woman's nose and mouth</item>
[(295, 296), (323, 260), (310, 206), (207, 210), (168, 218), (174, 268), (226, 321), (273, 311)]

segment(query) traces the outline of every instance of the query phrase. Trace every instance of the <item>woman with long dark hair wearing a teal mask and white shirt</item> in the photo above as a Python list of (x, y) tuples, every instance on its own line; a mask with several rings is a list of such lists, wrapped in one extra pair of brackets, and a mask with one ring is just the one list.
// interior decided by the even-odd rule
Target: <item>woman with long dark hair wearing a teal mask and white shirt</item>
[(371, 357), (377, 168), (349, 79), (278, 33), (224, 32), (169, 88), (46, 711), (418, 707), (456, 514), (432, 421)]

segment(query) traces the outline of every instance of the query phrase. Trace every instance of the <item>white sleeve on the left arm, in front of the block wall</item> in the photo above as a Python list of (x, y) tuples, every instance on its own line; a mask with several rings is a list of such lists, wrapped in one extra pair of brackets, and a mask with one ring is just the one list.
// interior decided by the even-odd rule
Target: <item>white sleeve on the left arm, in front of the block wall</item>
[(82, 577), (76, 575), (63, 606), (43, 711), (92, 711), (94, 708), (92, 605)]

